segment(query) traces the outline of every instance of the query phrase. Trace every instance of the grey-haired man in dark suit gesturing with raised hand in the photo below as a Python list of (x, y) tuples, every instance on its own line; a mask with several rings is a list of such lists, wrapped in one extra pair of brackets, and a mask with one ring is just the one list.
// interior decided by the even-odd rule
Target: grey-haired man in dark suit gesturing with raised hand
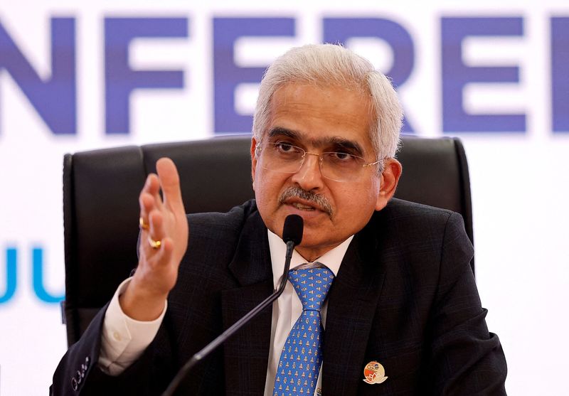
[[(159, 395), (276, 287), (283, 223), (298, 214), (285, 293), (179, 394), (504, 395), (504, 354), (486, 328), (462, 219), (391, 199), (401, 119), (388, 79), (349, 50), (304, 46), (277, 59), (253, 123), (255, 200), (186, 217), (176, 167), (159, 160), (139, 197), (137, 271), (68, 350), (53, 393)], [(315, 282), (323, 305), (307, 308)]]

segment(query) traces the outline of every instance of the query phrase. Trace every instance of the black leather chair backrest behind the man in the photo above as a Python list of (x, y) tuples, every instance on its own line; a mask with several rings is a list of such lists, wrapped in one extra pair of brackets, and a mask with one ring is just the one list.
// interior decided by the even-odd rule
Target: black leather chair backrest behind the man
[[(137, 265), (138, 195), (156, 160), (179, 169), (188, 213), (225, 211), (254, 197), (250, 136), (125, 146), (66, 154), (63, 160), (65, 323), (78, 341), (96, 312)], [(456, 138), (404, 137), (395, 196), (461, 213), (472, 240), (464, 148)], [(472, 262), (474, 270), (474, 261)]]

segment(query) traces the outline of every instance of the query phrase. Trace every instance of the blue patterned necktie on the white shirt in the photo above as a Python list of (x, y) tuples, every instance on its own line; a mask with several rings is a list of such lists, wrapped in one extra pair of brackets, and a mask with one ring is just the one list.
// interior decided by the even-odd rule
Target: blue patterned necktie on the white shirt
[(302, 302), (302, 314), (282, 348), (273, 396), (314, 395), (322, 362), (320, 309), (333, 280), (326, 267), (290, 270), (289, 281)]

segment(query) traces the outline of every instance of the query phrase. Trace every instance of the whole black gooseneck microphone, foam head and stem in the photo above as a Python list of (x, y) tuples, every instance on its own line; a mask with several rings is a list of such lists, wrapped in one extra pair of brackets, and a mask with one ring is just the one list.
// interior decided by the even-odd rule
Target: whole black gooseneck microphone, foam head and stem
[(263, 300), (259, 305), (255, 306), (251, 311), (248, 312), (243, 318), (239, 319), (232, 326), (230, 326), (227, 330), (223, 331), (216, 339), (208, 343), (202, 350), (198, 351), (195, 355), (191, 357), (190, 360), (179, 370), (174, 380), (170, 382), (170, 385), (166, 388), (162, 396), (172, 396), (176, 389), (179, 387), (180, 383), (186, 375), (190, 372), (190, 370), (195, 366), (200, 360), (205, 358), (207, 355), (213, 352), (218, 346), (223, 344), (225, 341), (228, 340), (230, 336), (238, 331), (240, 328), (245, 326), (251, 319), (255, 318), (260, 311), (265, 309), (269, 304), (272, 304), (273, 301), (279, 298), (283, 291), (285, 291), (285, 286), (287, 286), (287, 281), (289, 279), (289, 268), (290, 268), (290, 259), (292, 258), (292, 252), (294, 251), (294, 246), (299, 245), (302, 241), (302, 232), (304, 230), (304, 220), (299, 215), (288, 215), (285, 218), (285, 225), (282, 228), (282, 240), (285, 241), (287, 244), (287, 253), (285, 255), (285, 271), (282, 274), (281, 282), (279, 287), (275, 290), (273, 294), (268, 296), (265, 300)]

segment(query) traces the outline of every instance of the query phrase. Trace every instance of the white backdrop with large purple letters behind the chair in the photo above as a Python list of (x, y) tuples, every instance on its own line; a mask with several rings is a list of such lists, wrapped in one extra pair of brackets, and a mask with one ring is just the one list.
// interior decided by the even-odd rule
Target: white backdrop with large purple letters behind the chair
[[(216, 109), (222, 120), (249, 114), (255, 84), (236, 85), (234, 105), (228, 105), (227, 97), (216, 97), (214, 87), (224, 87), (227, 76), (239, 80), (245, 74), (235, 68), (264, 67), (290, 46), (323, 41), (325, 18), (382, 19), (406, 32), (407, 36), (400, 34), (393, 40), (352, 38), (346, 45), (385, 72), (395, 60), (410, 67), (401, 77), (399, 92), (408, 124), (416, 134), (440, 136), (445, 130), (445, 134), (464, 141), (472, 181), (477, 283), (483, 305), (489, 309), (489, 328), (499, 334), (506, 352), (507, 390), (511, 395), (569, 394), (565, 374), (569, 355), (569, 259), (565, 254), (569, 234), (569, 122), (562, 112), (552, 111), (558, 105), (565, 114), (569, 112), (569, 85), (565, 82), (569, 79), (567, 2), (542, 0), (524, 5), (501, 1), (499, 6), (489, 0), (472, 4), (398, 1), (389, 5), (358, 0), (349, 5), (336, 1), (288, 1), (287, 5), (275, 6), (252, 1), (242, 1), (239, 6), (231, 1), (209, 3), (19, 0), (1, 4), (0, 395), (46, 394), (53, 370), (65, 353), (65, 327), (57, 303), (64, 293), (63, 154), (105, 146), (201, 139), (220, 132), (223, 128), (214, 122)], [(113, 78), (120, 75), (105, 65), (105, 31), (110, 36), (105, 18), (117, 17), (176, 19), (187, 31), (169, 31), (170, 36), (178, 37), (130, 41), (129, 68), (178, 70), (179, 80), (173, 84), (179, 87), (134, 90), (128, 102), (129, 128), (122, 131), (128, 133), (109, 134), (105, 132), (109, 130), (105, 127), (105, 78), (115, 84), (111, 88), (116, 88), (120, 80)], [(216, 38), (213, 31), (235, 17), (289, 18), (294, 29), (286, 36), (275, 36), (270, 28), (256, 37), (245, 32), (230, 46), (234, 50), (230, 56), (222, 44), (232, 32), (220, 29)], [(64, 77), (59, 85), (43, 83), (53, 71), (52, 44), (69, 42), (53, 38), (52, 18), (68, 18), (65, 21), (73, 23), (65, 26), (75, 32), (75, 41), (71, 41), (75, 55), (62, 55), (61, 48), (55, 55), (76, 68), (75, 73), (58, 71)], [(452, 51), (457, 34), (448, 26), (457, 18), (483, 19), (479, 23), (483, 33), (467, 35), (460, 42), (459, 63), (471, 68), (496, 68), (484, 78), (498, 76), (494, 82), (483, 78), (482, 82), (464, 84), (464, 112), (525, 114), (525, 126), (520, 128), (512, 121), (501, 127), (484, 127), (477, 121), (461, 122), (453, 113), (453, 102), (449, 97), (445, 100), (442, 87), (452, 90), (454, 77), (469, 73), (442, 71), (457, 64), (452, 53), (446, 52)], [(491, 18), (503, 19), (494, 23)], [(551, 34), (553, 18), (560, 37)], [(508, 27), (512, 22), (514, 27)], [(516, 23), (521, 26), (518, 33), (514, 33)], [(161, 26), (164, 28), (164, 23)], [(495, 33), (501, 28), (506, 33)], [(484, 29), (489, 31), (484, 33)], [(65, 36), (65, 31), (62, 34)], [(113, 37), (107, 38), (108, 43), (115, 43)], [(409, 42), (413, 44), (410, 52), (401, 55), (401, 48), (409, 50), (405, 47)], [(14, 55), (14, 48), (22, 58)], [(216, 53), (223, 60), (217, 64), (218, 70), (229, 60), (235, 66), (233, 71), (216, 75)], [(43, 82), (37, 80), (34, 85), (30, 80), (18, 80), (24, 63)], [(502, 67), (518, 68), (518, 77), (504, 77), (497, 69)], [(508, 78), (509, 82), (504, 81)], [(555, 99), (553, 86), (562, 90)], [(26, 93), (23, 87), (31, 87), (31, 91)], [(41, 87), (47, 88), (43, 91)], [(75, 87), (76, 95), (65, 87)], [(50, 114), (63, 114), (71, 120), (68, 132), (73, 133), (55, 133), (59, 124), (46, 121), (48, 116), (38, 107)], [(459, 119), (461, 127), (453, 127), (457, 125), (452, 124), (453, 119)], [(469, 126), (474, 131), (464, 132)], [(235, 132), (242, 129), (237, 126)], [(135, 227), (136, 223), (133, 219)], [(34, 276), (39, 279), (35, 284)]]

